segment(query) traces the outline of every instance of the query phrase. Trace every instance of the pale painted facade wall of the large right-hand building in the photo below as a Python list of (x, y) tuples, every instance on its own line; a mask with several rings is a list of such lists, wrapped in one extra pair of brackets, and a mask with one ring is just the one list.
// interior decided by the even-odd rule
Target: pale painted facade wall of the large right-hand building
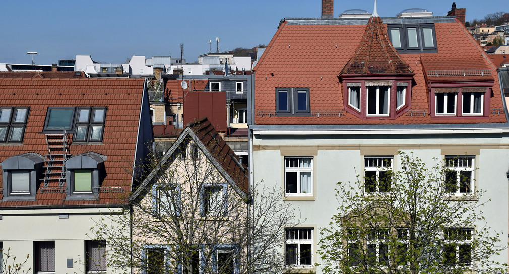
[[(263, 180), (266, 186), (275, 185), (284, 189), (285, 154), (287, 156), (314, 157), (314, 201), (281, 201), (291, 203), (302, 214), (304, 223), (301, 227), (328, 227), (332, 215), (336, 212), (337, 201), (334, 194), (336, 183), (354, 182), (356, 175), (363, 176), (363, 158), (365, 155), (394, 155), (394, 169), (397, 171), (400, 160), (395, 151), (403, 150), (424, 160), (429, 167), (434, 164), (433, 158), (443, 159), (445, 155), (452, 155), (446, 151), (457, 151), (462, 154), (463, 148), (469, 154), (475, 153), (476, 185), (485, 190), (483, 201), (488, 201), (482, 209), (488, 225), (500, 233), (500, 245), (507, 247), (504, 237), (509, 232), (509, 184), (506, 172), (509, 167), (509, 138), (508, 135), (479, 136), (475, 134), (463, 135), (435, 135), (434, 138), (423, 135), (320, 135), (327, 132), (287, 131), (281, 135), (272, 135), (274, 131), (254, 131), (252, 140), (252, 172), (254, 181)], [(408, 132), (410, 133), (410, 132)], [(307, 135), (303, 135), (307, 134)], [(380, 151), (376, 153), (376, 151)], [(371, 151), (371, 152), (366, 152)], [(373, 152), (375, 151), (375, 152)], [(394, 151), (388, 153), (387, 151)], [(319, 233), (315, 231), (314, 244), (316, 251)], [(281, 252), (284, 252), (281, 247)], [(315, 263), (323, 264), (315, 252)], [(507, 250), (494, 260), (507, 263)], [(320, 268), (314, 269), (323, 273)]]

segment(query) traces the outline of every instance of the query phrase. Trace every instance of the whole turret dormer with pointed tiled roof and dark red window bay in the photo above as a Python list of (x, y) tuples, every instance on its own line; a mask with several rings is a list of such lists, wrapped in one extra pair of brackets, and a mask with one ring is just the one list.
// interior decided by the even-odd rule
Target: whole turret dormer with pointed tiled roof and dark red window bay
[(361, 119), (394, 119), (410, 108), (412, 76), (376, 12), (354, 55), (337, 78), (345, 110)]

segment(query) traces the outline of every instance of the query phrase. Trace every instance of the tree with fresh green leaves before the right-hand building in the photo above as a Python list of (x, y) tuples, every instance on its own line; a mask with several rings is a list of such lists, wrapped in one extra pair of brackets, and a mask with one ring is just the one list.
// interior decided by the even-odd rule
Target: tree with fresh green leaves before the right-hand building
[[(470, 178), (448, 163), (435, 159), (427, 168), (401, 151), (399, 158), (398, 171), (375, 179), (386, 192), (366, 193), (360, 176), (353, 184), (338, 182), (337, 213), (320, 231), (324, 272), (506, 273), (493, 256), (507, 242), (486, 224), (483, 191), (469, 190), (463, 182)], [(453, 194), (458, 187), (466, 188), (462, 195)]]

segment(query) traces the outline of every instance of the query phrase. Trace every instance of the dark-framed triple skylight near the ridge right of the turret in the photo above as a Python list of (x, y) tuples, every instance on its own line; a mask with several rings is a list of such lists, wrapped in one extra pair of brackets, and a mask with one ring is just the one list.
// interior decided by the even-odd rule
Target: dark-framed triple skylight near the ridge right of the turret
[(387, 34), (399, 53), (438, 52), (434, 24), (387, 25)]

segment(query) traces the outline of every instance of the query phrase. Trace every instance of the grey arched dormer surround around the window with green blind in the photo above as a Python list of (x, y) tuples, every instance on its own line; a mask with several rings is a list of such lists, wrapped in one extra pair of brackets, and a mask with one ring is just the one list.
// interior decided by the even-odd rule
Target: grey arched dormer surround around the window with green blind
[[(99, 186), (106, 176), (104, 168), (105, 156), (96, 153), (86, 153), (69, 158), (65, 163), (66, 170), (66, 199), (97, 199)], [(74, 191), (74, 170), (91, 170), (91, 192)]]

